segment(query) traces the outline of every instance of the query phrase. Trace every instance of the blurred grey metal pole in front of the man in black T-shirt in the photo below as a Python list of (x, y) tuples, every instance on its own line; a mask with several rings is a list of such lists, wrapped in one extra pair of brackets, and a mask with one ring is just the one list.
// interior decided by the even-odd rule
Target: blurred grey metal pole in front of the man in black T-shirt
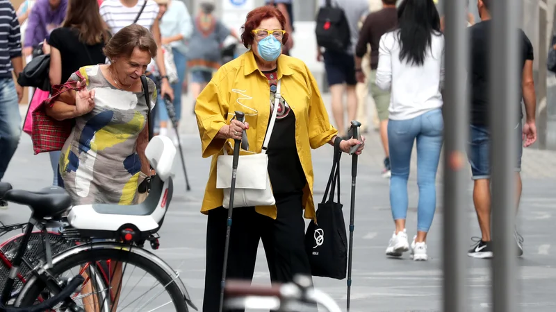
[(494, 258), (493, 311), (518, 311), (514, 220), (516, 200), (516, 124), (519, 84), (518, 20), (521, 1), (490, 1), (492, 15), (490, 55), (492, 241)]

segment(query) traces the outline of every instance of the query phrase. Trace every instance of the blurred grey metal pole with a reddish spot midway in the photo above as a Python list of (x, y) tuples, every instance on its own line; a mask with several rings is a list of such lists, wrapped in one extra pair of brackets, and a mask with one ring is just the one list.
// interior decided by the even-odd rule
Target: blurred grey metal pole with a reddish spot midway
[(444, 222), (443, 222), (443, 311), (467, 312), (466, 250), (468, 177), (466, 142), (469, 132), (466, 71), (468, 35), (465, 0), (444, 6)]

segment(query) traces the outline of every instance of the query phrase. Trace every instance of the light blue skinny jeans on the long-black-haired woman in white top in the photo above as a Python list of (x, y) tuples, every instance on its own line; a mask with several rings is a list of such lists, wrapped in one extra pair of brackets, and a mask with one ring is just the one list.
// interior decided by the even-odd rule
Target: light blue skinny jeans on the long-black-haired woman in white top
[(440, 109), (414, 119), (389, 120), (388, 145), (392, 177), (390, 204), (394, 220), (407, 216), (407, 179), (414, 141), (417, 140), (417, 230), (428, 232), (436, 210), (436, 171), (442, 149), (444, 121)]

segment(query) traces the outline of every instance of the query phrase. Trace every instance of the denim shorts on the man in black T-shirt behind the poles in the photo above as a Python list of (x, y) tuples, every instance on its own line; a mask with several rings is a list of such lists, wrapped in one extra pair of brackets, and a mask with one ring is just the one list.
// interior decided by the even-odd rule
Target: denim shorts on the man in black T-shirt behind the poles
[[(521, 155), (523, 155), (523, 125), (521, 121), (514, 128), (516, 139), (515, 171), (521, 171)], [(469, 125), (469, 142), (467, 157), (471, 164), (473, 180), (489, 179), (491, 175), (491, 133), (483, 125)]]

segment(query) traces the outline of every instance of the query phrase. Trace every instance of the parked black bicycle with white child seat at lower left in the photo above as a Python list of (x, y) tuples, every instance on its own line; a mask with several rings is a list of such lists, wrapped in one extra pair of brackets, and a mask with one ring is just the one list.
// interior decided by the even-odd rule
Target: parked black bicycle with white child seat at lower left
[[(33, 211), (29, 222), (25, 225), (25, 233), (19, 250), (23, 250), (31, 236), (34, 226), (40, 227), (46, 233), (46, 227), (52, 223), (64, 223), (66, 226), (60, 236), (71, 247), (51, 257), (49, 237), (44, 239), (45, 261), (39, 261), (38, 266), (33, 266), (31, 277), (24, 282), (13, 302), (15, 307), (33, 306), (36, 301), (44, 298), (57, 297), (60, 287), (70, 285), (74, 277), (83, 277), (83, 283), (71, 297), (65, 297), (56, 309), (59, 311), (83, 311), (77, 306), (75, 300), (83, 300), (83, 306), (92, 306), (93, 311), (115, 311), (127, 309), (132, 304), (138, 306), (136, 311), (152, 311), (145, 306), (163, 293), (167, 292), (170, 302), (154, 302), (158, 309), (167, 304), (173, 304), (175, 311), (188, 311), (188, 306), (197, 310), (191, 302), (186, 286), (177, 272), (156, 255), (143, 249), (145, 242), (149, 241), (153, 249), (157, 249), (158, 229), (160, 229), (167, 208), (172, 199), (172, 164), (176, 155), (176, 148), (167, 137), (154, 137), (145, 150), (145, 155), (156, 170), (156, 175), (148, 180), (147, 199), (139, 205), (78, 205), (71, 207), (71, 198), (63, 189), (51, 187), (38, 192), (10, 190), (6, 191), (3, 198), (10, 202), (27, 205)], [(6, 184), (0, 183), (1, 189)], [(2, 196), (2, 193), (0, 193)], [(67, 217), (63, 214), (67, 211)], [(46, 234), (45, 234), (46, 235)], [(57, 235), (54, 235), (57, 237)], [(99, 241), (101, 240), (101, 241)], [(21, 252), (13, 259), (13, 267), (21, 258)], [(28, 261), (27, 261), (28, 262)], [(123, 264), (125, 262), (125, 265)], [(136, 287), (145, 288), (145, 283), (137, 281), (131, 291), (124, 295), (122, 282), (124, 277), (135, 281), (133, 275), (124, 276), (128, 265), (145, 270), (152, 278), (154, 286), (147, 289), (163, 286), (163, 291), (147, 302), (142, 302), (147, 296), (141, 293), (131, 304), (122, 304)], [(78, 268), (74, 277), (64, 277), (63, 273), (68, 268)], [(10, 275), (4, 286), (3, 293), (10, 293), (13, 282)], [(21, 282), (21, 281), (19, 281)], [(116, 283), (116, 284), (114, 284)], [(94, 284), (94, 285), (93, 285)], [(69, 287), (69, 286), (67, 286)], [(147, 286), (149, 288), (149, 286)], [(84, 294), (85, 292), (85, 294)], [(89, 292), (89, 293), (86, 293)], [(2, 296), (6, 300), (8, 297)], [(49, 301), (47, 299), (46, 301)], [(122, 308), (123, 306), (123, 308)], [(79, 310), (81, 309), (81, 310)], [(133, 309), (133, 308), (132, 308)]]

